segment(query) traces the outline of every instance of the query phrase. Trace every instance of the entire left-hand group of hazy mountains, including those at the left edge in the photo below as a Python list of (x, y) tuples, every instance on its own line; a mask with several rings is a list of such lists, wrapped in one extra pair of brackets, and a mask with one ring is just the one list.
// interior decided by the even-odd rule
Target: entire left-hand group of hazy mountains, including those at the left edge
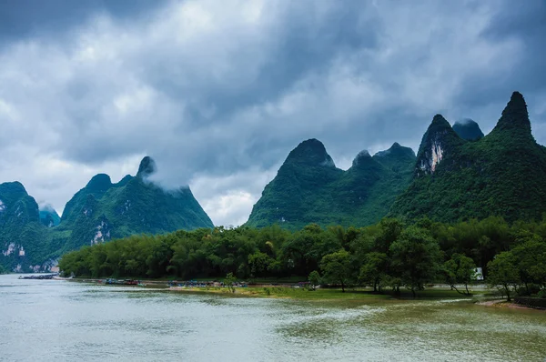
[[(55, 210), (38, 210), (20, 183), (0, 185), (0, 264), (8, 270), (39, 271), (81, 246), (134, 234), (213, 227), (189, 187), (164, 190), (148, 181), (155, 163), (145, 157), (136, 176), (113, 184), (94, 176), (66, 203), (55, 226)], [(58, 217), (58, 216), (57, 216)]]

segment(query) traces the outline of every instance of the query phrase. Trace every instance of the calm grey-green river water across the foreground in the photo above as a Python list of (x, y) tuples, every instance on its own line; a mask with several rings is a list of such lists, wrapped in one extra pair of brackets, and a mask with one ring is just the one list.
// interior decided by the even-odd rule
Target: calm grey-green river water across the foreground
[(546, 313), (308, 302), (0, 276), (6, 361), (545, 361)]

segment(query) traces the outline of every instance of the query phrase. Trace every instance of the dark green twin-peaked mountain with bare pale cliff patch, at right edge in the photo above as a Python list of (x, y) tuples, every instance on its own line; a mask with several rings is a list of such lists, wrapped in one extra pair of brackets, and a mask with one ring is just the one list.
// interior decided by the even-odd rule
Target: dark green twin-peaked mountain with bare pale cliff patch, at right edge
[(478, 141), (460, 138), (435, 116), (420, 144), (413, 181), (391, 215), (442, 222), (541, 219), (544, 180), (546, 148), (535, 142), (525, 100), (514, 92), (497, 126)]

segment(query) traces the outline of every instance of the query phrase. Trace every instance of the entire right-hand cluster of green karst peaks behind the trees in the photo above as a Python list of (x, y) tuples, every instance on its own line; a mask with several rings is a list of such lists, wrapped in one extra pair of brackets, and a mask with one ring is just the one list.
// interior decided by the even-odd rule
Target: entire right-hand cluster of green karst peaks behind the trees
[(545, 149), (531, 136), (518, 92), (487, 136), (473, 120), (451, 127), (434, 116), (417, 157), (394, 144), (374, 156), (361, 152), (343, 171), (318, 140), (308, 140), (290, 152), (247, 225), (367, 226), (384, 216), (540, 219), (546, 211)]

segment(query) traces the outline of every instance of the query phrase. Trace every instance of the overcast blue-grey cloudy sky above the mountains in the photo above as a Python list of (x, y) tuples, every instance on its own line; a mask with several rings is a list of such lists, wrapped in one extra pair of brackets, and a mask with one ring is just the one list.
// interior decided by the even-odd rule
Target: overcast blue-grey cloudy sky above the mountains
[(0, 0), (0, 182), (60, 213), (149, 155), (239, 225), (311, 137), (347, 168), (519, 90), (545, 144), (545, 39), (541, 0)]

